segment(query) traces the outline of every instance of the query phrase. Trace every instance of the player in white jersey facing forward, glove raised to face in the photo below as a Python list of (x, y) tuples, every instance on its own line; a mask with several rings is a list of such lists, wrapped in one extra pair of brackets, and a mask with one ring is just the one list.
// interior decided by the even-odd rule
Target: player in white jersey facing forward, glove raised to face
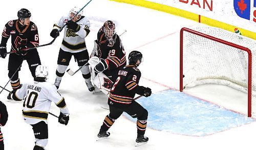
[(50, 33), (53, 38), (56, 38), (59, 36), (59, 29), (67, 25), (64, 27), (64, 37), (59, 50), (57, 61), (58, 67), (56, 70), (56, 80), (54, 84), (58, 89), (61, 79), (69, 66), (71, 57), (74, 55), (78, 66), (82, 67), (81, 72), (84, 80), (86, 81), (87, 87), (89, 91), (92, 92), (94, 87), (91, 82), (89, 64), (84, 66), (89, 60), (89, 54), (84, 38), (90, 33), (90, 22), (86, 17), (82, 16), (82, 11), (79, 11), (79, 8), (74, 7), (70, 11), (69, 16), (62, 16), (58, 23), (53, 26), (53, 30)]

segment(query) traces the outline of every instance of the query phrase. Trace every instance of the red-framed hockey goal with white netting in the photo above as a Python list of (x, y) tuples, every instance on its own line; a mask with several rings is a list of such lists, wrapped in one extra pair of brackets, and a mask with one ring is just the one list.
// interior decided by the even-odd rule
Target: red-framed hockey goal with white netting
[(181, 29), (181, 92), (199, 84), (227, 85), (248, 94), (247, 115), (256, 116), (255, 69), (255, 40), (219, 28)]

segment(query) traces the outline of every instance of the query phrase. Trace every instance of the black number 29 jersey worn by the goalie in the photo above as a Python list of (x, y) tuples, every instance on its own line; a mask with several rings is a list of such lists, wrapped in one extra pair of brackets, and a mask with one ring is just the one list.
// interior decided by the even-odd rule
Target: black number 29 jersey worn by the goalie
[(126, 55), (121, 39), (115, 34), (115, 43), (114, 45), (110, 44), (102, 28), (100, 28), (96, 42), (98, 44), (99, 58), (105, 59), (109, 65), (109, 68), (104, 70), (103, 73), (113, 79), (111, 76), (117, 74), (118, 69), (126, 65)]

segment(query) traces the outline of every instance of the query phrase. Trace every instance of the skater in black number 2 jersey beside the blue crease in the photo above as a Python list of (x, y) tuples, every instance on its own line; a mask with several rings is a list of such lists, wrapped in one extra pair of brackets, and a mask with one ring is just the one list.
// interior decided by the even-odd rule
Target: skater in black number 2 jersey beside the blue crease
[(148, 141), (148, 138), (144, 136), (147, 123), (147, 110), (133, 100), (135, 94), (145, 97), (151, 96), (150, 88), (138, 85), (141, 73), (137, 67), (141, 62), (142, 54), (138, 51), (132, 51), (129, 54), (129, 65), (119, 69), (118, 77), (111, 88), (108, 100), (110, 114), (105, 117), (100, 127), (99, 138), (108, 137), (110, 135), (107, 132), (109, 128), (123, 112), (126, 112), (133, 118), (138, 119), (136, 146)]

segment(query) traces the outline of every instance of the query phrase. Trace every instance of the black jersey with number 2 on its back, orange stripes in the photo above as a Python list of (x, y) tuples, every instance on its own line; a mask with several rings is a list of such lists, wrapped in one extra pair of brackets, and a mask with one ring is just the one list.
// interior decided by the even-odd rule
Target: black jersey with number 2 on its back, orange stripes
[(135, 65), (127, 65), (118, 71), (118, 77), (110, 91), (113, 103), (131, 104), (135, 94), (143, 95), (144, 87), (139, 86), (140, 70)]

